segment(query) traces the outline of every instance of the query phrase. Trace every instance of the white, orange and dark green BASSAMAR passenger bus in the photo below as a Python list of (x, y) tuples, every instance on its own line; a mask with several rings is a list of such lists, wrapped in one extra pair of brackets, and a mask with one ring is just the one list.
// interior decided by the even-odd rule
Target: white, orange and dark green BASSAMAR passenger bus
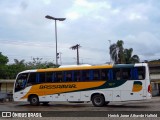
[(149, 69), (146, 63), (137, 63), (26, 70), (16, 77), (13, 98), (31, 105), (92, 101), (96, 107), (151, 99)]

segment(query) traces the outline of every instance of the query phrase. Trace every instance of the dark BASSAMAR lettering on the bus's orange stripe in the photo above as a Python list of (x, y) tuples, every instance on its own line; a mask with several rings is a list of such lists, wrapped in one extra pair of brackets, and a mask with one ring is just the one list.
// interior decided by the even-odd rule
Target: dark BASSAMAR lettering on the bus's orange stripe
[(39, 89), (77, 88), (75, 84), (68, 85), (40, 85)]

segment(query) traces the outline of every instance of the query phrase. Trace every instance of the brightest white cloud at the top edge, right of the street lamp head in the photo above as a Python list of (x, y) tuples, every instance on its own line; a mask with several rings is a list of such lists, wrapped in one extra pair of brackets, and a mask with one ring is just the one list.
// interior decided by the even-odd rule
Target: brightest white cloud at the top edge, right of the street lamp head
[(110, 3), (105, 2), (90, 2), (88, 0), (75, 0), (72, 7), (66, 12), (66, 16), (71, 20), (81, 18), (101, 18), (99, 12), (111, 9)]

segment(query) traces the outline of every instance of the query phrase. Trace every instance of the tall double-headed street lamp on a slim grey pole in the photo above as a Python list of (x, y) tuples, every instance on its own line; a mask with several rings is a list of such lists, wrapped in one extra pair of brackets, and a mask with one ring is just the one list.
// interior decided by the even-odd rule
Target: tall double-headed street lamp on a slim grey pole
[(46, 15), (45, 18), (50, 20), (55, 20), (55, 39), (56, 39), (56, 65), (58, 65), (58, 53), (57, 53), (57, 20), (58, 21), (64, 21), (66, 18), (55, 18), (49, 15)]

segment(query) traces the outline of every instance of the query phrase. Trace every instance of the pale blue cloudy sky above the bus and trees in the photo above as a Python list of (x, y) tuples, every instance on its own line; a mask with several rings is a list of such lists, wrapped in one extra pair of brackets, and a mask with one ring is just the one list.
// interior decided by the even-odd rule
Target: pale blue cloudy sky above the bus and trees
[[(0, 52), (14, 59), (55, 62), (57, 21), (61, 64), (104, 64), (110, 61), (111, 44), (124, 41), (141, 61), (160, 59), (159, 0), (0, 0)], [(60, 60), (59, 60), (60, 63)]]

